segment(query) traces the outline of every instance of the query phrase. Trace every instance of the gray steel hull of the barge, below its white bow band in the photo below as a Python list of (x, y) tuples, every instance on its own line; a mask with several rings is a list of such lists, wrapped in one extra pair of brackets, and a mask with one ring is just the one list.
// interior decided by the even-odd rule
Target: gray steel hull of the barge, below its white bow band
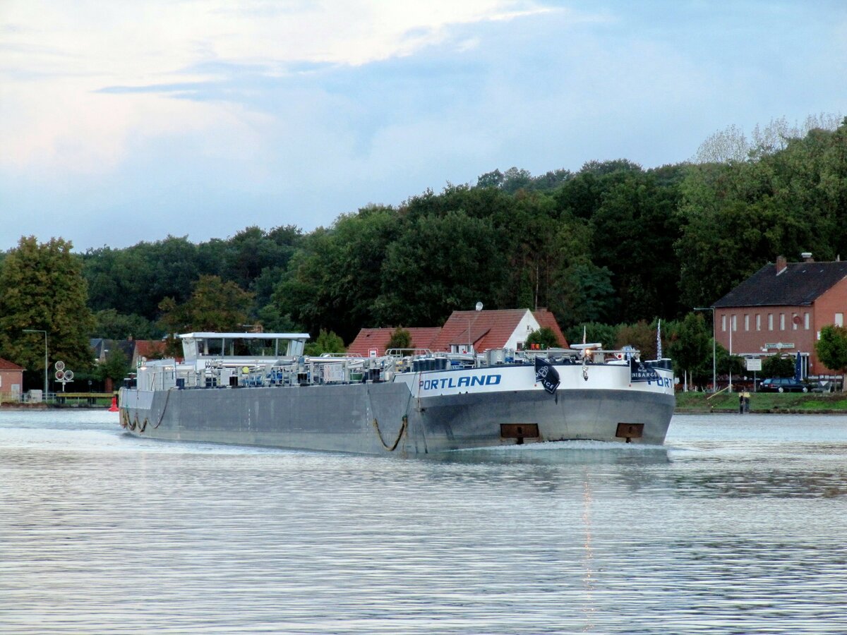
[[(121, 422), (141, 437), (401, 456), (569, 439), (662, 444), (673, 407), (673, 395), (624, 389), (420, 398), (402, 383), (121, 392)], [(638, 433), (617, 436), (621, 423)]]

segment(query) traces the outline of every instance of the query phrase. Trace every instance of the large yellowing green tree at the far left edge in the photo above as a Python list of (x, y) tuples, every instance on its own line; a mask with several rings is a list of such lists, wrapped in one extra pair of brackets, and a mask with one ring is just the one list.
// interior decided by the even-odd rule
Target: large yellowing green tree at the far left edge
[(0, 268), (0, 356), (26, 367), (35, 385), (44, 373), (43, 334), (24, 329), (47, 331), (50, 359), (75, 372), (91, 367), (94, 320), (82, 262), (72, 248), (62, 238), (39, 244), (35, 236), (23, 237)]

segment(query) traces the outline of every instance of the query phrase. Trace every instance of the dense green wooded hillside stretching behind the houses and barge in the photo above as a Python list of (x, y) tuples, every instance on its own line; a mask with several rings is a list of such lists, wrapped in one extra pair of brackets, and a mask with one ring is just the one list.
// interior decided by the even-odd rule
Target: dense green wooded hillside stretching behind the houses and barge
[[(847, 253), (847, 119), (808, 128), (772, 122), (753, 142), (728, 129), (694, 162), (660, 168), (620, 159), (540, 176), (494, 170), (311, 232), (248, 227), (225, 240), (169, 235), (81, 254), (62, 239), (25, 237), (0, 261), (0, 356), (37, 367), (19, 346), (25, 328), (71, 348), (89, 336), (256, 325), (349, 344), (363, 327), (439, 325), (477, 301), (546, 306), (569, 340), (585, 329), (615, 345), (636, 338), (640, 323), (654, 350), (662, 319), (673, 345), (692, 306), (708, 306), (778, 254)], [(58, 284), (59, 271), (64, 281), (48, 298), (39, 289)], [(7, 293), (13, 286), (19, 292)], [(78, 311), (60, 319), (61, 298)]]

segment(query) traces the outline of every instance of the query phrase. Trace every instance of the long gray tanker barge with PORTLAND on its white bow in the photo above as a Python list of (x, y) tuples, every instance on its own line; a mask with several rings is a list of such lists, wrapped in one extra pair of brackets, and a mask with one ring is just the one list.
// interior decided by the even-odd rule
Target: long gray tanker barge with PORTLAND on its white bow
[(189, 333), (140, 361), (121, 425), (152, 439), (418, 456), (584, 439), (662, 444), (670, 360), (579, 345), (480, 355), (305, 356), (305, 333)]

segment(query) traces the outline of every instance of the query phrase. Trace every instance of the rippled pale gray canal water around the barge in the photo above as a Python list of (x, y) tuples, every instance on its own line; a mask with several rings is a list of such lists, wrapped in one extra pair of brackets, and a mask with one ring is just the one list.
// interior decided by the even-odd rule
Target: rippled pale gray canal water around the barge
[(847, 417), (401, 460), (0, 412), (0, 631), (844, 633)]

